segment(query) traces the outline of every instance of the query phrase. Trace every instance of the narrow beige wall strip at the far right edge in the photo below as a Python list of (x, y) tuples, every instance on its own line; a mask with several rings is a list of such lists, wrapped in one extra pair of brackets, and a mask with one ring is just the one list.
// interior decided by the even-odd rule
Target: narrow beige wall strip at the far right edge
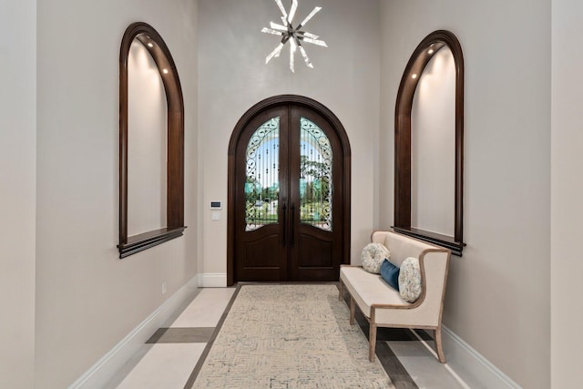
[[(583, 341), (583, 261), (579, 258), (583, 220), (583, 3), (553, 0), (553, 90), (551, 127), (551, 384), (580, 386)], [(577, 330), (576, 330), (577, 331)]]

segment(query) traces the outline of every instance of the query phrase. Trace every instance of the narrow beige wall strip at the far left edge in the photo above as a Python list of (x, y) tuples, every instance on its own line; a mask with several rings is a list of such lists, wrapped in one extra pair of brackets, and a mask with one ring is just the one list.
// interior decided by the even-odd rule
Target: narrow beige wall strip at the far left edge
[(0, 3), (0, 386), (35, 362), (36, 1)]

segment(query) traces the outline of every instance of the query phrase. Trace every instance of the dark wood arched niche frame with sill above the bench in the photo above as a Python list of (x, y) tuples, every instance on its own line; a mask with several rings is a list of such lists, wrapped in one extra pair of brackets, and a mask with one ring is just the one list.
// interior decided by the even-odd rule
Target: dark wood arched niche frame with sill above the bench
[[(433, 55), (448, 47), (455, 62), (455, 227), (449, 237), (411, 227), (411, 109), (414, 93)], [(433, 51), (432, 51), (433, 50)], [(464, 55), (449, 31), (425, 36), (404, 69), (394, 113), (394, 230), (444, 246), (461, 256), (465, 246), (464, 223)]]

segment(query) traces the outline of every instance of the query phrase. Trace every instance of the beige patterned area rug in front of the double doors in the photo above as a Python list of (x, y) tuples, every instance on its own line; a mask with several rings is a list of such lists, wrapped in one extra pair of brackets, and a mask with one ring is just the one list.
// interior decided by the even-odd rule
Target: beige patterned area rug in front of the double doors
[(334, 284), (240, 286), (191, 378), (212, 389), (394, 388)]

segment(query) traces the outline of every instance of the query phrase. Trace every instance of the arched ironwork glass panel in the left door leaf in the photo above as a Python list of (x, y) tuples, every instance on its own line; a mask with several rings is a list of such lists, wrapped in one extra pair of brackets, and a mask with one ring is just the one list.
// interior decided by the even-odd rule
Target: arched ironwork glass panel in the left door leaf
[(280, 118), (271, 118), (253, 133), (246, 151), (245, 230), (278, 222), (280, 194)]

